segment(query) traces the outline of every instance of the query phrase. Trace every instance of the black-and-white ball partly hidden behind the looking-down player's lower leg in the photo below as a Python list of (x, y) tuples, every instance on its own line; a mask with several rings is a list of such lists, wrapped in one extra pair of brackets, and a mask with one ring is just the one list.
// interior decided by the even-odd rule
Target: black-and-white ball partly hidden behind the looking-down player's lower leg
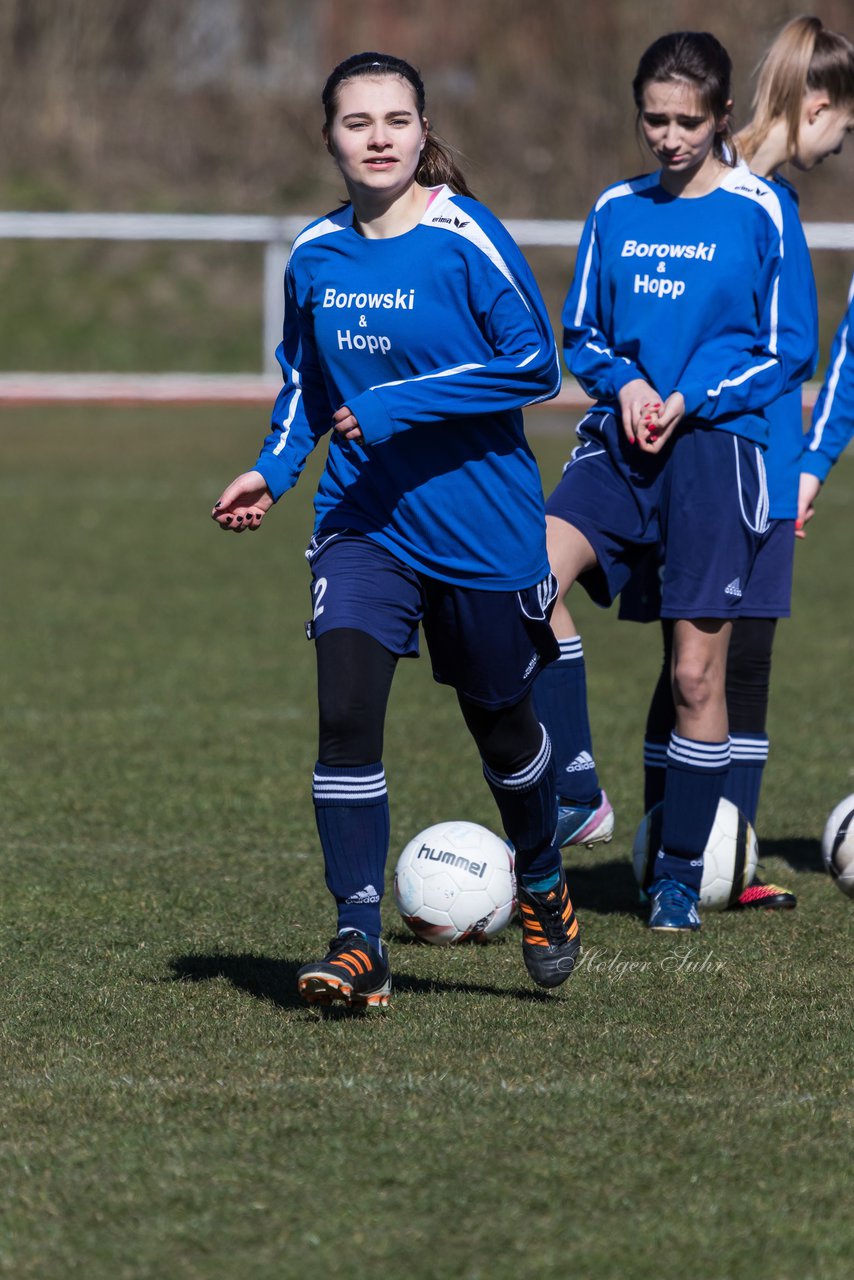
[[(635, 879), (647, 891), (656, 878), (656, 855), (661, 849), (662, 805), (641, 819), (631, 850)], [(734, 906), (757, 870), (757, 836), (736, 806), (721, 799), (709, 838), (703, 850), (700, 906), (725, 911)]]

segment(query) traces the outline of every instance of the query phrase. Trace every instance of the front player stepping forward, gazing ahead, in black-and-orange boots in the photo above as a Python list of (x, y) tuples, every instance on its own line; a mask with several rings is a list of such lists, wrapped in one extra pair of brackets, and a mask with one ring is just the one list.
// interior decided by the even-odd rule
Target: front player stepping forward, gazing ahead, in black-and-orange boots
[(530, 694), (557, 649), (557, 588), (521, 415), (558, 390), (554, 337), (519, 248), (430, 132), (415, 69), (355, 55), (323, 102), (350, 201), (293, 244), (271, 430), (213, 512), (223, 529), (257, 529), (330, 435), (306, 554), (320, 710), (312, 796), (338, 934), (300, 970), (300, 992), (388, 1002), (383, 728), (419, 623), (516, 850), (525, 964), (556, 987), (579, 937), (554, 842), (552, 748)]

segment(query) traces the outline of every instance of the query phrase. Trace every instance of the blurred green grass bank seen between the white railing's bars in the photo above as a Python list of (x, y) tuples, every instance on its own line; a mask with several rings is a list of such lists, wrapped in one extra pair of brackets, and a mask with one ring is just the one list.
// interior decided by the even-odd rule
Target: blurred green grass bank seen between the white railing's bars
[[(575, 252), (525, 253), (560, 337)], [(850, 253), (816, 251), (813, 264), (822, 378), (846, 307)], [(260, 244), (0, 242), (0, 371), (256, 374), (269, 355), (261, 275)]]

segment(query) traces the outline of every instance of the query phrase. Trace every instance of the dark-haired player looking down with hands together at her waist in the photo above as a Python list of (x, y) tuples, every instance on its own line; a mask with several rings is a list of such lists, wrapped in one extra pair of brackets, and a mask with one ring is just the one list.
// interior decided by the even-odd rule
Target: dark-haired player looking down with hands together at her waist
[[(667, 749), (653, 929), (697, 929), (703, 849), (730, 763), (731, 618), (768, 521), (764, 406), (791, 376), (778, 348), (780, 200), (734, 165), (731, 64), (708, 33), (643, 55), (632, 90), (659, 172), (607, 188), (585, 224), (563, 308), (565, 356), (597, 399), (547, 502), (561, 591), (609, 604), (645, 548), (663, 545), (673, 620), (676, 727)], [(593, 762), (584, 658), (563, 604), (561, 658), (538, 682), (558, 764), (562, 842), (607, 823)], [(631, 654), (627, 654), (629, 663)], [(567, 831), (568, 826), (568, 831)]]

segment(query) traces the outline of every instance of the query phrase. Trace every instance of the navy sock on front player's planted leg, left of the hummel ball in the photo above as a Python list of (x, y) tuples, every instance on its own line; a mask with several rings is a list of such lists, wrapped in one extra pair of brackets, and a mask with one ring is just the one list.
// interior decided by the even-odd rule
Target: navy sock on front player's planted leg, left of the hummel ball
[(318, 762), (311, 795), (338, 929), (359, 929), (379, 950), (389, 837), (383, 763), (339, 768)]

